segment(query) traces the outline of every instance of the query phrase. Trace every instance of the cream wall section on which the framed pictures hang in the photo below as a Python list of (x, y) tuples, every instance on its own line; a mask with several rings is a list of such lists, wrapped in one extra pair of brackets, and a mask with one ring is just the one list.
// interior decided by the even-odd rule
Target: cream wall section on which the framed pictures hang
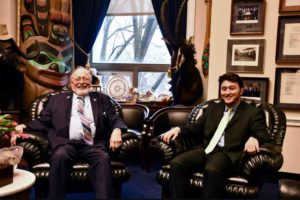
[[(265, 30), (263, 35), (256, 36), (230, 36), (230, 12), (231, 0), (212, 1), (212, 25), (211, 25), (211, 49), (208, 80), (207, 99), (218, 96), (218, 77), (226, 72), (226, 54), (228, 39), (265, 39), (264, 73), (245, 74), (244, 77), (269, 77), (268, 102), (273, 103), (275, 69), (279, 67), (275, 63), (275, 49), (277, 37), (279, 0), (266, 0)], [(292, 65), (295, 66), (295, 65)], [(291, 65), (280, 65), (280, 67), (291, 67)], [(299, 67), (299, 64), (298, 66)], [(300, 119), (300, 112), (285, 110), (288, 119)], [(288, 125), (283, 145), (284, 164), (283, 172), (300, 174), (300, 127)]]

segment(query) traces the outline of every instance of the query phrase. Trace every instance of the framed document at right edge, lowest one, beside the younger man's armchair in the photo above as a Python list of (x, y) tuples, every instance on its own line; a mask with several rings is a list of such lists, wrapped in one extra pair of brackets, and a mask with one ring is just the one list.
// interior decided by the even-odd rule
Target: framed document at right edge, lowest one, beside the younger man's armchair
[(274, 104), (280, 108), (300, 109), (300, 68), (276, 68)]

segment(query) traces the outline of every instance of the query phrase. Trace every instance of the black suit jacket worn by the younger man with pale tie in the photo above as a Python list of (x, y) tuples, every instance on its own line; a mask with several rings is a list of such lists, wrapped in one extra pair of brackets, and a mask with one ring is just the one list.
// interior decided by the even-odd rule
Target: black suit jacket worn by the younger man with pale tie
[[(197, 123), (180, 127), (182, 134), (199, 134), (199, 137), (203, 138), (203, 147), (206, 148), (223, 117), (224, 110), (223, 101), (209, 104)], [(263, 111), (242, 101), (225, 129), (224, 150), (233, 163), (240, 158), (250, 136), (257, 138), (260, 144), (269, 140)]]

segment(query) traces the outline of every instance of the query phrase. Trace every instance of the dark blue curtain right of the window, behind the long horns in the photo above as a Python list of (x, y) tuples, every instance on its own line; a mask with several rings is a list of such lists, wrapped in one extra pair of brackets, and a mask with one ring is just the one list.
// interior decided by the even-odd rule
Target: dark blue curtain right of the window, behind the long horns
[[(161, 5), (163, 3), (164, 0), (152, 0), (152, 5), (153, 5), (153, 9), (154, 9), (154, 13), (159, 25), (159, 28), (162, 32), (163, 37), (167, 37), (166, 31), (165, 31), (165, 27), (163, 27), (162, 25), (162, 21), (161, 21), (161, 17), (160, 17), (160, 9), (161, 9)], [(171, 33), (172, 37), (174, 39), (185, 39), (186, 38), (186, 14), (187, 14), (187, 6), (185, 6), (183, 14), (182, 14), (182, 21), (181, 21), (181, 32), (178, 35), (178, 37), (176, 38), (175, 36), (175, 26), (176, 26), (176, 16), (177, 16), (177, 12), (178, 9), (180, 7), (182, 0), (169, 0), (168, 2), (168, 6), (167, 6), (167, 13), (166, 13), (166, 21), (168, 23), (169, 26), (169, 32)], [(172, 55), (172, 51), (173, 51), (173, 47), (169, 44), (167, 44), (168, 50), (170, 55)]]

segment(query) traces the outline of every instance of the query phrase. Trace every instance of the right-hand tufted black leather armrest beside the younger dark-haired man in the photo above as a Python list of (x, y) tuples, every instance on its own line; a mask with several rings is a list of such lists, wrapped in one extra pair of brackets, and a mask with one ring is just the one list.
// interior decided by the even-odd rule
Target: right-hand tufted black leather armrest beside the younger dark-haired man
[(254, 179), (257, 173), (278, 171), (283, 164), (281, 151), (280, 145), (267, 143), (254, 156), (243, 154), (240, 162), (241, 174)]

